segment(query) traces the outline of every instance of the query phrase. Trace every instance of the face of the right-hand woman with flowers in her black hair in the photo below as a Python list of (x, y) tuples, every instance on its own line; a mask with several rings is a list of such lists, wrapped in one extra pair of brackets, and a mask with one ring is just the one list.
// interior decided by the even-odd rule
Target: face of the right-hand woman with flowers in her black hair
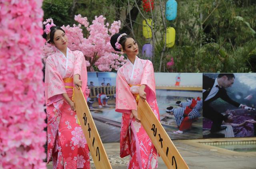
[(128, 56), (136, 56), (139, 53), (137, 42), (128, 37), (124, 43), (124, 53)]

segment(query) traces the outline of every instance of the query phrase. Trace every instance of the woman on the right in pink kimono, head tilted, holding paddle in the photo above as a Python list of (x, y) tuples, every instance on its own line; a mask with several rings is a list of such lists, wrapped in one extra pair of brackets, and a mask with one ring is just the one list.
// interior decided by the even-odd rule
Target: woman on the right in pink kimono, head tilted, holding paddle
[[(129, 169), (155, 169), (157, 151), (140, 123), (138, 98), (147, 100), (155, 116), (160, 119), (156, 102), (153, 65), (138, 58), (136, 41), (125, 33), (116, 33), (110, 43), (116, 51), (123, 51), (128, 59), (118, 69), (116, 77), (116, 111), (122, 113), (120, 157), (130, 155)], [(130, 132), (129, 132), (130, 126)]]

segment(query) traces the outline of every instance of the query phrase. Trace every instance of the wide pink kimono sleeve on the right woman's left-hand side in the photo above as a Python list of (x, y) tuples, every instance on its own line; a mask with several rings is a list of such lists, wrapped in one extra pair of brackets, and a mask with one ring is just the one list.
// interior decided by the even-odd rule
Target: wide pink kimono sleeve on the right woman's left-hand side
[(130, 86), (121, 71), (117, 71), (116, 77), (116, 112), (131, 113), (131, 110), (137, 110), (137, 104)]

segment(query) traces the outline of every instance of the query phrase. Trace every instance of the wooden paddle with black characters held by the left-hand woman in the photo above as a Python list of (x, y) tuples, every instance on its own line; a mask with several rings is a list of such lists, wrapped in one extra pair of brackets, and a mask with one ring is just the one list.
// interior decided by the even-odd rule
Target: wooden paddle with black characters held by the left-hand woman
[(112, 169), (81, 88), (74, 88), (74, 103), (96, 169)]

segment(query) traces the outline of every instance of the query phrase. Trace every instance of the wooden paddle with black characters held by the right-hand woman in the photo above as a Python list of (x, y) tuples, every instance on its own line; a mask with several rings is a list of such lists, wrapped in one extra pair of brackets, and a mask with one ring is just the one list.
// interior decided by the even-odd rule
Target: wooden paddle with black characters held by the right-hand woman
[(168, 169), (189, 169), (172, 140), (156, 118), (148, 102), (141, 98), (138, 103), (138, 117)]

